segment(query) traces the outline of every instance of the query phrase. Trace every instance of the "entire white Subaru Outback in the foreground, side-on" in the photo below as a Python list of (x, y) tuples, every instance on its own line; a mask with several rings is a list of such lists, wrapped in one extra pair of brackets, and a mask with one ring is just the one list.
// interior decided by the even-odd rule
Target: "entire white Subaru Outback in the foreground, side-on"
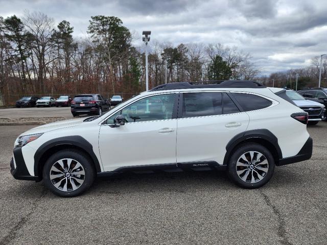
[(266, 184), (275, 165), (311, 158), (308, 113), (285, 89), (252, 81), (170, 83), (106, 114), (54, 122), (22, 133), (11, 174), (43, 180), (73, 197), (98, 176), (127, 171), (227, 170), (245, 188)]

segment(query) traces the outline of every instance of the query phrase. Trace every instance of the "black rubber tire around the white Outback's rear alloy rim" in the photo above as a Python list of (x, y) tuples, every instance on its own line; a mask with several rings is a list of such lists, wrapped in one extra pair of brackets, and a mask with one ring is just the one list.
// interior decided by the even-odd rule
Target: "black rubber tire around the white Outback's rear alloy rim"
[[(255, 166), (255, 164), (252, 164), (253, 162), (255, 163), (255, 160), (254, 160), (253, 162), (251, 161), (251, 164), (247, 163), (249, 165), (249, 167), (243, 167), (243, 169), (242, 169), (242, 166), (237, 166), (237, 162), (238, 162), (239, 158), (241, 158), (241, 156), (243, 154), (246, 154), (246, 156), (248, 156), (248, 152), (258, 152), (258, 153), (263, 154), (263, 156), (266, 158), (268, 163), (265, 164), (265, 165), (261, 165), (261, 166)], [(255, 153), (255, 154), (257, 154), (257, 153)], [(258, 155), (256, 155), (256, 156), (258, 156)], [(254, 157), (253, 157), (253, 159), (254, 159)], [(262, 159), (264, 159), (264, 158), (262, 158)], [(263, 160), (261, 162), (263, 162)], [(254, 166), (262, 168), (262, 166), (266, 167), (268, 165), (267, 173), (265, 173), (262, 170), (256, 169), (255, 167), (253, 168), (253, 170), (251, 170), (250, 165), (252, 165), (251, 168), (253, 168)], [(258, 164), (258, 165), (260, 165), (260, 164)], [(237, 173), (237, 167), (239, 169), (239, 173), (241, 173), (242, 170), (244, 170), (244, 172), (243, 172), (244, 175), (242, 177), (245, 177), (245, 175), (247, 174), (247, 172), (249, 170), (249, 173), (248, 173), (249, 177), (248, 178), (252, 178), (252, 176), (254, 176), (254, 181), (258, 181), (258, 182), (251, 183), (252, 180), (249, 180), (247, 178), (246, 178), (246, 181), (243, 181), (241, 179), (241, 177)], [(271, 179), (271, 177), (273, 176), (274, 169), (275, 169), (275, 161), (274, 161), (274, 158), (273, 158), (272, 154), (263, 145), (260, 145), (260, 144), (257, 144), (257, 143), (241, 144), (240, 146), (238, 146), (237, 150), (232, 153), (232, 155), (231, 155), (231, 157), (229, 159), (229, 162), (228, 162), (228, 175), (229, 175), (229, 178), (233, 182), (235, 182), (237, 185), (239, 185), (239, 186), (241, 186), (243, 188), (249, 188), (249, 189), (259, 188), (259, 187), (265, 185)], [(256, 172), (256, 171), (258, 171), (258, 172)], [(261, 173), (262, 175), (264, 175), (262, 180), (260, 180), (260, 178), (258, 178), (259, 177), (258, 173)]]

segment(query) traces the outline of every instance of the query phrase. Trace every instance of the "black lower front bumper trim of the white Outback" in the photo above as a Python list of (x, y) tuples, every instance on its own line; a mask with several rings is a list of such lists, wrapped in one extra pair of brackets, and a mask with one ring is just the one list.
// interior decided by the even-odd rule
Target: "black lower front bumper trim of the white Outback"
[(27, 170), (24, 157), (22, 156), (21, 148), (14, 148), (14, 156), (10, 161), (10, 173), (16, 180), (34, 180), (40, 181), (38, 176), (31, 176)]

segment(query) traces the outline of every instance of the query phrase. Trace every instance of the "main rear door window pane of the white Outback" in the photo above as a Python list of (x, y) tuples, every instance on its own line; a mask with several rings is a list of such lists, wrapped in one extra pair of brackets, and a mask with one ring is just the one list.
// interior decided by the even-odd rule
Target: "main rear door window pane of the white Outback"
[(221, 114), (221, 93), (183, 93), (182, 117), (211, 116)]

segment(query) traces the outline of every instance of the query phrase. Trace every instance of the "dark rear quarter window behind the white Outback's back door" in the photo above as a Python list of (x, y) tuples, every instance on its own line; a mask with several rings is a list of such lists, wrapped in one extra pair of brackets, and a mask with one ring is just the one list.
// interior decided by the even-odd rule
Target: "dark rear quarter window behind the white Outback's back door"
[(272, 105), (272, 102), (254, 94), (249, 93), (232, 93), (237, 102), (244, 111), (254, 111), (267, 108)]

